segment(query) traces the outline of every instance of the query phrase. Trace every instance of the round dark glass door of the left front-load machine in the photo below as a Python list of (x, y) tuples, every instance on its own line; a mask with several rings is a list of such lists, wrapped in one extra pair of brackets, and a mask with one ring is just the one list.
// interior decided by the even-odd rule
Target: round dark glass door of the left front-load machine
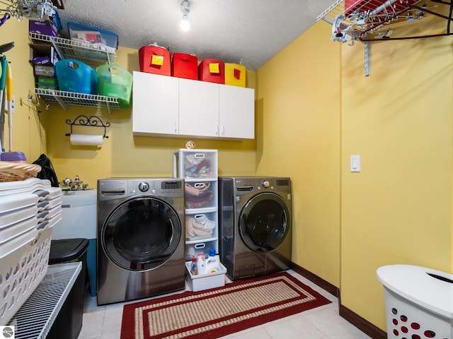
[(105, 254), (127, 270), (150, 270), (171, 257), (181, 240), (176, 211), (165, 201), (142, 196), (125, 201), (105, 219)]

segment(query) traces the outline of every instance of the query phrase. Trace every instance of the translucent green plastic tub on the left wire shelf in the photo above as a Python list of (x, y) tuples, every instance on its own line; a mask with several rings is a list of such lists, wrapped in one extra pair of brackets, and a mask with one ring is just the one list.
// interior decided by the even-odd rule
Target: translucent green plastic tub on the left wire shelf
[(130, 105), (132, 74), (117, 65), (102, 65), (96, 68), (98, 92), (106, 97), (116, 97), (120, 107)]

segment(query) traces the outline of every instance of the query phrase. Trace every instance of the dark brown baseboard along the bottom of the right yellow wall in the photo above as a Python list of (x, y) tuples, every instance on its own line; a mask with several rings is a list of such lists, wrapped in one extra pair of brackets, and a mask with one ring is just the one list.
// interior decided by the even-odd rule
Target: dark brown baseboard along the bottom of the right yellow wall
[(353, 311), (348, 309), (347, 307), (344, 307), (341, 304), (341, 298), (340, 298), (340, 289), (336, 287), (335, 285), (332, 285), (331, 283), (328, 283), (326, 280), (323, 280), (323, 278), (319, 278), (318, 275), (311, 273), (309, 270), (306, 270), (305, 268), (302, 268), (301, 266), (291, 263), (291, 269), (294, 270), (294, 272), (299, 273), (302, 275), (304, 278), (310, 280), (312, 283), (315, 283), (319, 287), (321, 287), (323, 290), (326, 290), (329, 292), (331, 295), (334, 295), (335, 297), (338, 298), (338, 314), (340, 316), (352, 323), (355, 327), (357, 327), (360, 331), (363, 333), (369, 335), (369, 337), (373, 339), (386, 339), (387, 334), (382, 331), (379, 327), (374, 326), (372, 323), (369, 321), (363, 319), (361, 316), (358, 314), (355, 314)]

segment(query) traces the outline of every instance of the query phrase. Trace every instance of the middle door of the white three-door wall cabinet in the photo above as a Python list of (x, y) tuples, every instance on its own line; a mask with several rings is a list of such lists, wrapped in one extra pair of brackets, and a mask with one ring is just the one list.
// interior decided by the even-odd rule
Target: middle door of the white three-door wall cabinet
[(179, 133), (185, 136), (217, 136), (218, 84), (179, 79)]

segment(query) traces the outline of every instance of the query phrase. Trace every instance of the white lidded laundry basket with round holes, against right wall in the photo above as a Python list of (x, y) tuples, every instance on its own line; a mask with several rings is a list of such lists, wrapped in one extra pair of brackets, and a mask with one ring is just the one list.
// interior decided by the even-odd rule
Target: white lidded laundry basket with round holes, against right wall
[(420, 266), (377, 270), (384, 285), (387, 338), (453, 339), (453, 275)]

